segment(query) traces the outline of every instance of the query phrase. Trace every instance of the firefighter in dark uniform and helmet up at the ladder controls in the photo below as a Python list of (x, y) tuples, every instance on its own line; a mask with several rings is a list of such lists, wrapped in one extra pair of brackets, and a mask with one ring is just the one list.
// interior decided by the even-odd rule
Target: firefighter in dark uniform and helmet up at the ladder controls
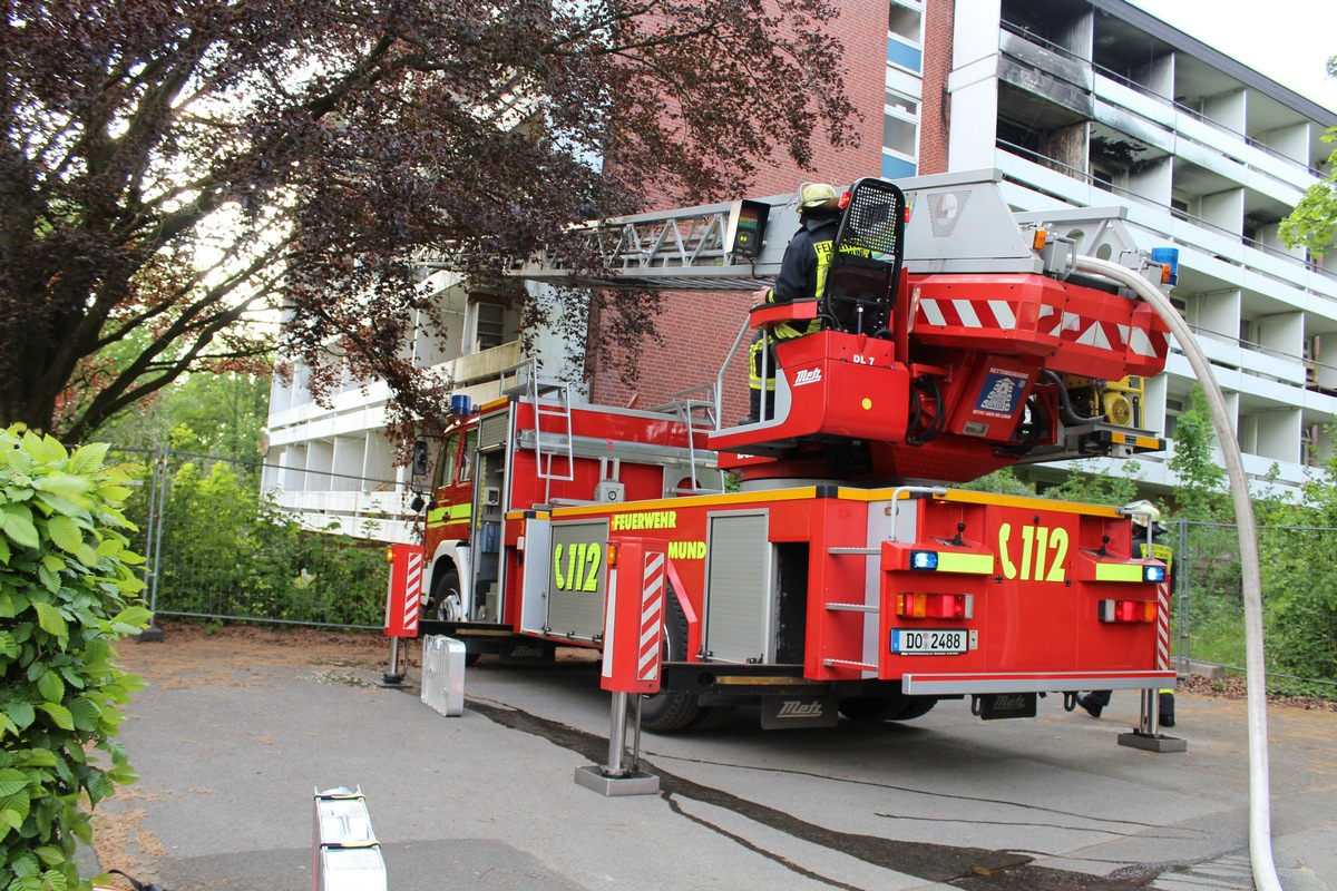
[[(832, 264), (832, 244), (836, 230), (840, 228), (840, 199), (836, 190), (826, 183), (804, 183), (798, 187), (798, 222), (794, 236), (785, 247), (779, 263), (779, 275), (774, 287), (757, 291), (762, 303), (789, 303), (801, 299), (821, 299), (826, 286), (826, 273)], [(775, 325), (770, 339), (789, 341), (821, 330), (821, 321), (808, 325)], [(761, 393), (766, 390), (766, 417), (774, 415), (775, 398), (775, 358), (774, 351), (766, 359), (766, 377), (762, 378), (762, 351), (766, 338), (761, 331), (753, 337), (747, 350), (749, 413), (739, 423), (757, 423), (761, 418)]]

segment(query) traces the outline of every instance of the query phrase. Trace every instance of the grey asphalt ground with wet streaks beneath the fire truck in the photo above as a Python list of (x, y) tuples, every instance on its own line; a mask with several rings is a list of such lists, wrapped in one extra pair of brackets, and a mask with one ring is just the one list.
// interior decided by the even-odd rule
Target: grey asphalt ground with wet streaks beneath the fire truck
[[(1181, 696), (1174, 755), (1115, 744), (1131, 693), (1099, 721), (1054, 699), (787, 732), (745, 711), (646, 736), (660, 792), (603, 797), (574, 781), (607, 760), (590, 664), (485, 660), (444, 717), (365, 655), (197, 644), (122, 645), (150, 684), (122, 732), (143, 780), (96, 815), (100, 867), (171, 891), (312, 887), (313, 792), (341, 785), (366, 795), (392, 891), (1253, 887), (1241, 701)], [(1273, 708), (1269, 729), (1282, 886), (1332, 891), (1337, 713)]]

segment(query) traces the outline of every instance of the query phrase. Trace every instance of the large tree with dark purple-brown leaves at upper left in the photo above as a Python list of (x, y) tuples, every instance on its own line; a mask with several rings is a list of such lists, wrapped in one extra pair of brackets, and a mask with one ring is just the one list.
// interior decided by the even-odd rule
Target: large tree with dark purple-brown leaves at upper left
[[(0, 423), (67, 439), (189, 369), (250, 370), (265, 306), (317, 395), (346, 366), (432, 414), (424, 252), (476, 287), (539, 244), (592, 266), (568, 223), (853, 140), (826, 0), (3, 7)], [(628, 333), (655, 309), (604, 299)]]

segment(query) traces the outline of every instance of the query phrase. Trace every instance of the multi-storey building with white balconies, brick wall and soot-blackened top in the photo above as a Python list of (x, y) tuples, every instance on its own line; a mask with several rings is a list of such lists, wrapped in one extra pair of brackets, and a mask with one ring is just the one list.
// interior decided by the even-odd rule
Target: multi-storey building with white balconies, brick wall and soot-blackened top
[[(805, 179), (840, 186), (997, 170), (1016, 210), (1123, 207), (1139, 247), (1181, 250), (1171, 297), (1227, 395), (1246, 470), (1296, 486), (1332, 454), (1337, 275), (1288, 250), (1277, 224), (1324, 175), (1329, 148), (1320, 138), (1337, 112), (1122, 0), (842, 5), (840, 63), (864, 116), (860, 146), (818, 150), (814, 171), (767, 168), (755, 195)], [(513, 311), (472, 295), (465, 282), (444, 271), (428, 281), (460, 338), (445, 349), (424, 342), (414, 361), (448, 370), (461, 391), (496, 395), (501, 369), (541, 358), (554, 370), (564, 361), (563, 345), (544, 339), (521, 355)], [(622, 379), (630, 357), (591, 363), (574, 369), (588, 381), (582, 398), (646, 406), (713, 382), (750, 303), (745, 294), (668, 295), (663, 346), (640, 351), (636, 382)], [(738, 387), (726, 394), (726, 418), (745, 413), (745, 369), (733, 367)], [(1193, 386), (1177, 350), (1147, 385), (1144, 425), (1171, 449)], [(266, 486), (316, 525), (406, 538), (409, 478), (381, 435), (386, 398), (384, 387), (349, 385), (324, 409), (299, 373), (291, 386), (275, 383)], [(1174, 484), (1170, 454), (1142, 457), (1146, 485)]]

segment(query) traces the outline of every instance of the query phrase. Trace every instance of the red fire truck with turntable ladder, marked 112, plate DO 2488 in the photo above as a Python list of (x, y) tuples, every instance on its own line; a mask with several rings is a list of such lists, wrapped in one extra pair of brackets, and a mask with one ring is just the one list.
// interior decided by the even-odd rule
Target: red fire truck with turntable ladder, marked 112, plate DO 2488
[[(424, 632), (471, 656), (599, 648), (610, 568), (636, 538), (667, 556), (652, 731), (738, 704), (759, 704), (766, 727), (908, 720), (964, 697), (995, 719), (1034, 716), (1048, 692), (1071, 708), (1079, 689), (1173, 685), (1165, 566), (1134, 557), (1128, 516), (948, 486), (1162, 448), (1139, 423), (1167, 329), (1071, 258), (1157, 282), (1174, 270), (1147, 263), (1116, 212), (1015, 215), (993, 178), (860, 180), (848, 198), (824, 299), (754, 310), (739, 333), (735, 351), (751, 330), (824, 321), (777, 345), (759, 423), (719, 423), (722, 371), (710, 398), (656, 411), (576, 405), (531, 377), (444, 431)], [(758, 246), (792, 214), (783, 198), (717, 211), (691, 230), (693, 259), (632, 258), (626, 281), (765, 282), (783, 246)], [(618, 226), (681, 234), (686, 214)], [(614, 259), (639, 250), (627, 242)]]

